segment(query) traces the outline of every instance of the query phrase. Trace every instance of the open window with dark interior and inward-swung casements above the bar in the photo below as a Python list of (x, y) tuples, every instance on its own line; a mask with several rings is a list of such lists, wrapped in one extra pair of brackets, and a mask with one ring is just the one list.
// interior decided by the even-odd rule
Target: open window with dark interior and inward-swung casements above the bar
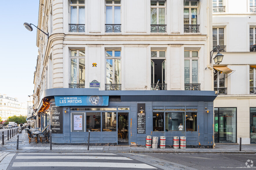
[(151, 51), (151, 90), (166, 90), (165, 51)]

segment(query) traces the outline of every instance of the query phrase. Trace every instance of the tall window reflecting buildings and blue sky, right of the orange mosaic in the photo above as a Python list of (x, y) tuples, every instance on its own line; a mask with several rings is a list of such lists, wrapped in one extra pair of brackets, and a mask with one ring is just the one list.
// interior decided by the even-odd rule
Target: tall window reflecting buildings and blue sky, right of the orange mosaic
[(121, 51), (106, 51), (106, 84), (121, 84)]

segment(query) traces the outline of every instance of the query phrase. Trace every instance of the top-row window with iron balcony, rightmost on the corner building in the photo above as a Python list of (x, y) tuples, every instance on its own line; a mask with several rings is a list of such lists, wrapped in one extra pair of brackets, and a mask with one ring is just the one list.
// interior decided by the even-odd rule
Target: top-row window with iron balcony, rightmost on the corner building
[(184, 1), (184, 32), (197, 33), (199, 25), (197, 25), (198, 1)]

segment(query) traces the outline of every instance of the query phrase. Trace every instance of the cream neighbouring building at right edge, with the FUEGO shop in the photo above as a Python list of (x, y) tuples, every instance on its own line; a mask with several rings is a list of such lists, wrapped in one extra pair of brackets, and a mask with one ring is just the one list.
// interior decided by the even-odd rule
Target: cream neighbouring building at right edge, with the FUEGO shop
[[(217, 3), (220, 2), (217, 1)], [(216, 72), (219, 75), (215, 76), (216, 84), (214, 88), (226, 88), (226, 94), (222, 91), (222, 94), (219, 94), (214, 100), (214, 112), (216, 113), (214, 125), (215, 128), (219, 127), (220, 143), (239, 143), (240, 137), (242, 138), (242, 144), (255, 143), (253, 139), (250, 141), (250, 134), (253, 137), (255, 133), (253, 124), (250, 125), (250, 119), (251, 123), (254, 122), (252, 115), (256, 107), (256, 86), (255, 73), (251, 72), (255, 71), (256, 52), (255, 50), (250, 51), (250, 45), (256, 44), (256, 5), (252, 0), (223, 0), (220, 5), (217, 3), (215, 3), (217, 7), (213, 7), (212, 27), (213, 36), (216, 37), (215, 45), (221, 45), (221, 48), (224, 48), (223, 51), (220, 51), (224, 57), (219, 66), (227, 66), (233, 71), (224, 75), (219, 74), (218, 71), (218, 73)], [(218, 108), (222, 110), (219, 112), (219, 114), (222, 114), (219, 117), (219, 121), (222, 121), (222, 123), (219, 124), (216, 121)], [(227, 108), (235, 108), (235, 111), (233, 111), (234, 117), (226, 116), (231, 113), (231, 111), (223, 111), (225, 109), (230, 110)], [(224, 121), (226, 123), (223, 123)], [(215, 130), (215, 137), (218, 134), (216, 131), (217, 129)], [(235, 138), (237, 139), (235, 140)]]

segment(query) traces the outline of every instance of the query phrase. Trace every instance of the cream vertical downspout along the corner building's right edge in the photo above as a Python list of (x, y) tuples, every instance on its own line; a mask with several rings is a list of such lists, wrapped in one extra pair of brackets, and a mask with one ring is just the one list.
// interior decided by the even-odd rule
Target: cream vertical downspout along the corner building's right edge
[[(212, 66), (210, 66), (210, 0), (207, 1), (207, 67), (211, 70), (212, 72), (212, 91), (214, 91), (214, 87), (213, 87), (213, 81), (214, 81), (214, 75), (213, 75), (213, 71), (214, 69), (212, 68)], [(212, 18), (211, 18), (212, 21)], [(214, 111), (213, 111), (213, 122), (214, 122)], [(212, 125), (213, 128), (213, 148), (215, 147), (215, 143), (214, 143), (214, 124)]]

